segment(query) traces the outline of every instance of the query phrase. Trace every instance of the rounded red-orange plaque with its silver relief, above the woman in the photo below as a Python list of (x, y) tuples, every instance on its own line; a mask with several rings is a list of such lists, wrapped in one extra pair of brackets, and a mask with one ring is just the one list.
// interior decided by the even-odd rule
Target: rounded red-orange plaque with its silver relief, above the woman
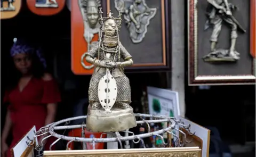
[(59, 13), (66, 5), (65, 0), (27, 0), (28, 8), (37, 15), (50, 16)]

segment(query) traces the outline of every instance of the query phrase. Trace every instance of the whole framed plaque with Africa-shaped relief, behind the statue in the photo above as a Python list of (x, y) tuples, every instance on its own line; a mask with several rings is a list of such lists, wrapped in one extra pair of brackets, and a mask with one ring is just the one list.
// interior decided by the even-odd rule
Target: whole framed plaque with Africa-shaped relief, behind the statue
[(126, 69), (169, 69), (170, 1), (107, 0), (107, 12), (122, 12), (119, 38), (133, 56), (134, 64)]

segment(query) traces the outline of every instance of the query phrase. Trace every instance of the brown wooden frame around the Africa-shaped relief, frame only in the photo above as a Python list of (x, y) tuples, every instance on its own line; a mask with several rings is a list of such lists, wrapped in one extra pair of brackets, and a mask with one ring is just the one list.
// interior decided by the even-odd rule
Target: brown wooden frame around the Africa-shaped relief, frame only
[[(162, 40), (163, 40), (163, 62), (162, 63), (134, 63), (132, 67), (125, 69), (152, 71), (168, 70), (171, 67), (171, 4), (168, 0), (161, 1), (161, 16), (162, 16)], [(110, 10), (110, 0), (106, 1), (107, 12)]]

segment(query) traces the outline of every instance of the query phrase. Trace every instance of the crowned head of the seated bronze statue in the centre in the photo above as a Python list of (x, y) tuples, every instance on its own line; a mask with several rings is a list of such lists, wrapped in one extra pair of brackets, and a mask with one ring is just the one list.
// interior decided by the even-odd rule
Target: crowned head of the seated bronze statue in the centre
[(109, 36), (109, 37), (117, 36), (118, 31), (121, 29), (121, 23), (122, 23), (122, 19), (121, 19), (122, 14), (120, 11), (117, 18), (114, 18), (112, 15), (113, 14), (111, 13), (111, 11), (109, 11), (108, 17), (102, 18), (102, 11), (100, 8), (99, 23), (102, 26), (102, 32), (105, 34), (105, 36)]

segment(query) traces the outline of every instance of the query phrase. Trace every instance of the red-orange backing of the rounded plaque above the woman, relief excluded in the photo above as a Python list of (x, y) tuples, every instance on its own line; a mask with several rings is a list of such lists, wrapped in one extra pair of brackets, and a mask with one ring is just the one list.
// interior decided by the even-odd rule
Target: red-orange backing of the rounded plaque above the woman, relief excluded
[[(58, 7), (36, 7), (36, 0), (27, 0), (27, 5), (29, 10), (37, 15), (50, 16), (59, 13), (66, 5), (65, 0), (55, 1), (57, 2)], [(43, 0), (43, 2), (46, 2), (46, 0)], [(50, 0), (49, 2), (53, 4), (54, 1)], [(41, 5), (43, 6), (44, 4)]]

